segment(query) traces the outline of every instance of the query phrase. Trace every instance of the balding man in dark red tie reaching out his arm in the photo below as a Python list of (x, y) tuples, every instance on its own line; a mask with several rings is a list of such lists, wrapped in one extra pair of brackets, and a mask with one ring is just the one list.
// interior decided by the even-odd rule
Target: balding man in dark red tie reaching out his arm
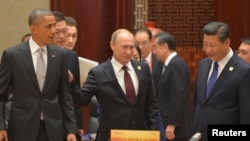
[[(87, 105), (93, 95), (100, 104), (102, 113), (96, 140), (109, 140), (111, 129), (158, 130), (158, 108), (150, 69), (145, 63), (131, 60), (133, 34), (126, 29), (116, 30), (110, 46), (113, 57), (91, 69), (81, 92), (74, 95), (79, 105)], [(132, 78), (134, 88), (130, 90), (136, 93), (134, 102), (127, 97), (123, 66), (128, 67)]]

